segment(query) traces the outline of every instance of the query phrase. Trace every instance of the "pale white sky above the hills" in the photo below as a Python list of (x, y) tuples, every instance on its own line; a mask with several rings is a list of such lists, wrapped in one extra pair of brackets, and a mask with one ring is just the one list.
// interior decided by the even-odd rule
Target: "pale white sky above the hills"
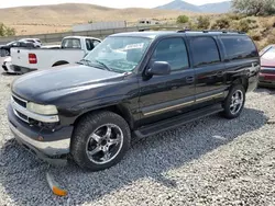
[[(21, 5), (42, 5), (56, 3), (91, 3), (109, 8), (154, 8), (168, 3), (173, 0), (0, 0), (0, 8), (21, 7)], [(205, 4), (221, 2), (224, 0), (185, 0), (193, 4)]]

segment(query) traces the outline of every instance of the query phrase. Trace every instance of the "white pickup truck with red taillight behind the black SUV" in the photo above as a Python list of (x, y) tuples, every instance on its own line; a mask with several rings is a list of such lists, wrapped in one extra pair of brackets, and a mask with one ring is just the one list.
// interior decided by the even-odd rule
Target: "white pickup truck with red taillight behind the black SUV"
[(55, 66), (74, 64), (92, 50), (100, 39), (86, 36), (67, 36), (61, 48), (12, 48), (11, 67), (16, 73), (47, 69)]

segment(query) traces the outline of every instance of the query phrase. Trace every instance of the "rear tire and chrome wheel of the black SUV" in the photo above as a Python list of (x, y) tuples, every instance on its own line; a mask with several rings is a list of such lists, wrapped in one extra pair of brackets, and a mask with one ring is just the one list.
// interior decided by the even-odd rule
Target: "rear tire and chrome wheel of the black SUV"
[[(238, 96), (242, 95), (242, 98), (240, 98), (240, 100), (233, 101), (233, 99), (234, 99), (233, 96), (237, 96), (237, 94), (238, 94)], [(233, 107), (232, 107), (233, 102), (235, 102), (235, 104), (237, 104), (237, 101), (239, 101), (240, 104), (238, 104), (235, 110), (233, 110)], [(244, 104), (245, 104), (245, 90), (244, 90), (242, 84), (235, 84), (230, 89), (229, 94), (228, 94), (226, 101), (223, 102), (224, 111), (223, 111), (222, 115), (229, 119), (237, 118), (242, 113)]]

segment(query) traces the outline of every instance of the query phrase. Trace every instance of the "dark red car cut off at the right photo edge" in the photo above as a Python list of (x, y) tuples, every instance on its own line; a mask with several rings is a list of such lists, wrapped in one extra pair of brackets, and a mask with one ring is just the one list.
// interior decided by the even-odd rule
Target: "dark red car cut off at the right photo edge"
[(265, 47), (261, 53), (260, 87), (275, 87), (275, 45)]

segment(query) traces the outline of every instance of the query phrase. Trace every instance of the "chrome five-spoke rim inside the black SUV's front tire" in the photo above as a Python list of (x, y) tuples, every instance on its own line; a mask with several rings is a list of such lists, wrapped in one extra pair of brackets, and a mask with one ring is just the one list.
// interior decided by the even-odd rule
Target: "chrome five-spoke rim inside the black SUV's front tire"
[(86, 153), (89, 160), (97, 164), (112, 161), (123, 145), (123, 133), (114, 124), (98, 127), (88, 138)]

